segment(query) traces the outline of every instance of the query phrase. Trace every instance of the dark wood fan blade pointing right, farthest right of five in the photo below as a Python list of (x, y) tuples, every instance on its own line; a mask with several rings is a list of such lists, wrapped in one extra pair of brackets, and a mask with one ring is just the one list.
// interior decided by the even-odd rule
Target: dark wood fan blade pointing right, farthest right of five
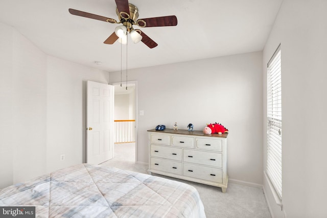
[(164, 17), (151, 17), (136, 20), (139, 27), (153, 27), (153, 26), (175, 26), (177, 25), (177, 17), (175, 15)]

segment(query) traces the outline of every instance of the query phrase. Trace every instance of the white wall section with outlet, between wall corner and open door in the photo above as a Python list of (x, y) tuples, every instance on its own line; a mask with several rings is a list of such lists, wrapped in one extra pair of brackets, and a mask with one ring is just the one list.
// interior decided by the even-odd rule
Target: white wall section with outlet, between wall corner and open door
[(52, 172), (86, 162), (86, 81), (108, 84), (108, 73), (48, 56), (46, 74), (46, 171)]

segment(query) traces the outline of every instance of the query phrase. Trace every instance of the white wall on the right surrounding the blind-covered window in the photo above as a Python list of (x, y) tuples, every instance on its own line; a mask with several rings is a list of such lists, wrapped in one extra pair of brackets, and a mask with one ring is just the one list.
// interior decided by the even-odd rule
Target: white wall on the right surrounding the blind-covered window
[[(266, 105), (265, 66), (282, 44), (283, 212), (264, 180), (274, 217), (327, 217), (326, 11), (327, 1), (284, 0), (263, 51)], [(263, 110), (265, 163), (265, 106)]]

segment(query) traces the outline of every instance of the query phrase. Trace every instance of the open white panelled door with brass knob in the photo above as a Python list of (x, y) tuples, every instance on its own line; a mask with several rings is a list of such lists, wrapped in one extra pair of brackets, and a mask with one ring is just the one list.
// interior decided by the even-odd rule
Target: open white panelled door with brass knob
[(113, 157), (114, 87), (87, 81), (86, 162), (99, 164)]

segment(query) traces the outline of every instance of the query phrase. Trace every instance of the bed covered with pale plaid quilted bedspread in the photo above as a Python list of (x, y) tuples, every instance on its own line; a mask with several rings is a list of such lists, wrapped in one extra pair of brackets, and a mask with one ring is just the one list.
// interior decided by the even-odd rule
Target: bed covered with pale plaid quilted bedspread
[(35, 206), (36, 217), (205, 217), (191, 185), (86, 163), (0, 189), (0, 206)]

